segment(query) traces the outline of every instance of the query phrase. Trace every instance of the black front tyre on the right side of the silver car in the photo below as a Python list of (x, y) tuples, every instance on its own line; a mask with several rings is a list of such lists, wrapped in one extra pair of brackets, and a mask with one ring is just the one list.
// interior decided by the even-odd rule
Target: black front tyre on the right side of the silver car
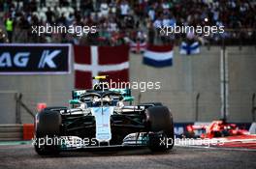
[(146, 109), (148, 148), (152, 152), (166, 152), (174, 147), (175, 135), (173, 116), (166, 106), (152, 106)]

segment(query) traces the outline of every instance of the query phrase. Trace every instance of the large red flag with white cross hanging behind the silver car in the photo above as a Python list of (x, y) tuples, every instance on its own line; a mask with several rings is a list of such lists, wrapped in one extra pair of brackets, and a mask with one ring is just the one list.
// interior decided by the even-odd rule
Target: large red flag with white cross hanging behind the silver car
[(129, 46), (74, 45), (74, 53), (77, 89), (91, 89), (96, 75), (109, 75), (114, 82), (129, 81)]

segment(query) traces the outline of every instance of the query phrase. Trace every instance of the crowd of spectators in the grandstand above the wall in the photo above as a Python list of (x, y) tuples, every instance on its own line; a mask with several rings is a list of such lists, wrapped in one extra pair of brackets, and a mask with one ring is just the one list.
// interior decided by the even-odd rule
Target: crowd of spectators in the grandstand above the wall
[[(253, 43), (256, 2), (250, 0), (0, 0), (0, 42), (72, 42), (117, 45), (180, 42), (161, 37), (159, 26), (224, 26), (224, 34), (193, 35), (203, 43)], [(95, 34), (32, 34), (32, 26), (93, 26)], [(191, 35), (190, 35), (191, 36)]]

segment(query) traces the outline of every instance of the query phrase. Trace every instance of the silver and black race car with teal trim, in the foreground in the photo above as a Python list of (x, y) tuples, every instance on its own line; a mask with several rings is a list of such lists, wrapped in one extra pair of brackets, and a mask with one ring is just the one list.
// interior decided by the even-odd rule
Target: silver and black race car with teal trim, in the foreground
[[(106, 78), (104, 76), (96, 77)], [(47, 107), (35, 117), (34, 147), (39, 155), (61, 151), (148, 147), (166, 152), (174, 146), (173, 116), (159, 102), (131, 105), (130, 89), (73, 91), (71, 107)]]

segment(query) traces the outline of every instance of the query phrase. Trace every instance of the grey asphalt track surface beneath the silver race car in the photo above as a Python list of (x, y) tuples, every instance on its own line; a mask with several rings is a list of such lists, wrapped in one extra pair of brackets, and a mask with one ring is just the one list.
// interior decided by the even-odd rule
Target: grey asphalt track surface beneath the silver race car
[(151, 154), (147, 149), (97, 153), (36, 155), (31, 145), (0, 146), (0, 168), (69, 169), (150, 169), (150, 168), (256, 168), (256, 152), (220, 148), (175, 147), (167, 154)]

